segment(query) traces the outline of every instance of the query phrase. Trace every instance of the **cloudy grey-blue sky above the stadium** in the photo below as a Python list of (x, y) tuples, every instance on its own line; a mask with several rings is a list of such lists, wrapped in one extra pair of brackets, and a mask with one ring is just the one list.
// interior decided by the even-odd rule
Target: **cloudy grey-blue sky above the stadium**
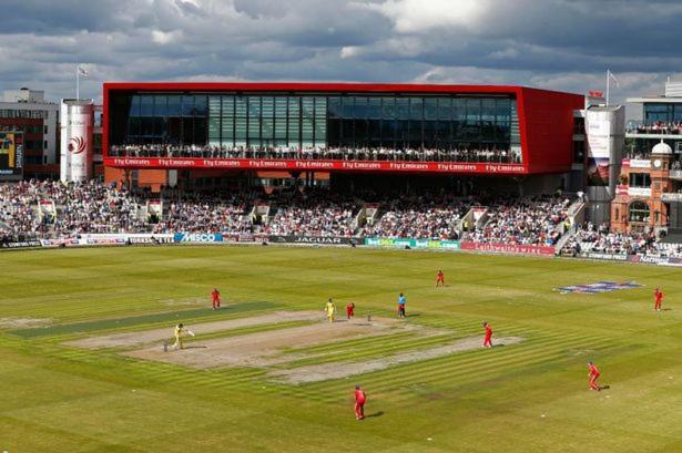
[(612, 101), (682, 81), (678, 0), (2, 0), (0, 89), (103, 81), (522, 84)]

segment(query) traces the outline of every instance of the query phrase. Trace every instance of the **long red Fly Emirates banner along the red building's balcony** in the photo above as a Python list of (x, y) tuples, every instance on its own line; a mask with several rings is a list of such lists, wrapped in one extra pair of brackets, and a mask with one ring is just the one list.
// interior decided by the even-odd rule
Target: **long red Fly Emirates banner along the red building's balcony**
[(522, 164), (459, 163), (459, 162), (368, 162), (368, 161), (305, 161), (268, 158), (195, 158), (195, 157), (105, 157), (104, 165), (130, 168), (258, 168), (335, 172), (426, 172), (527, 174)]

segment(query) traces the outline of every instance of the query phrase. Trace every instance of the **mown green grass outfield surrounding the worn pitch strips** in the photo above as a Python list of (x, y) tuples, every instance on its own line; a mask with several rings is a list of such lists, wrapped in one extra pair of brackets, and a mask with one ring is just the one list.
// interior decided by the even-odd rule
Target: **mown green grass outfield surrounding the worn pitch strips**
[[(446, 288), (434, 287), (438, 269)], [(552, 290), (599, 280), (644, 287)], [(206, 308), (214, 286), (230, 309)], [(652, 310), (655, 286), (671, 310)], [(179, 319), (322, 312), (329, 296), (339, 308), (354, 300), (360, 316), (393, 315), (398, 291), (407, 322), (465, 338), (480, 334), (486, 319), (496, 336), (523, 341), (302, 385), (258, 369), (193, 370), (63, 344), (171, 332)], [(682, 270), (673, 268), (350, 248), (11, 251), (0, 254), (0, 318), (51, 320), (0, 328), (0, 452), (682, 451)], [(273, 326), (233, 333), (259, 329)], [(405, 331), (344, 340), (304, 348), (314, 356), (292, 366), (447, 341)], [(588, 390), (589, 359), (609, 390)], [(353, 416), (356, 382), (374, 415), (364, 422)]]

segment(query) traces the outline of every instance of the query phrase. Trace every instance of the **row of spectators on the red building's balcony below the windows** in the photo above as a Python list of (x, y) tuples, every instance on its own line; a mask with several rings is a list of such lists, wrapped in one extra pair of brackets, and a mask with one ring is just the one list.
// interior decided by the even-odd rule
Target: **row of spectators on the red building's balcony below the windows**
[(201, 146), (201, 145), (113, 145), (111, 156), (118, 157), (201, 157), (201, 158), (266, 158), (266, 159), (334, 159), (390, 162), (485, 162), (521, 163), (521, 154), (488, 147), (390, 148), (390, 147), (286, 147), (286, 146)]

